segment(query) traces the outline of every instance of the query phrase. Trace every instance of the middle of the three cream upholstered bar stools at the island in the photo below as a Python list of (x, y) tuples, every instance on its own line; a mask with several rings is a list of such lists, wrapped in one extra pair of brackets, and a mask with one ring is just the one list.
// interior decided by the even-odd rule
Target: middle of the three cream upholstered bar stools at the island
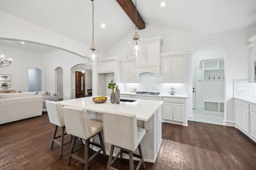
[[(64, 116), (64, 122), (66, 125), (66, 131), (68, 134), (74, 136), (71, 149), (70, 149), (70, 155), (68, 158), (68, 165), (70, 165), (71, 157), (73, 157), (83, 162), (84, 169), (87, 170), (88, 162), (90, 162), (90, 160), (92, 160), (101, 151), (103, 152), (103, 156), (104, 157), (106, 156), (102, 134), (101, 134), (101, 131), (103, 131), (102, 122), (94, 119), (89, 119), (87, 110), (83, 108), (64, 106), (62, 107), (62, 112)], [(90, 142), (90, 138), (94, 137), (95, 135), (99, 136), (100, 145)], [(77, 137), (84, 139), (85, 144), (78, 147), (76, 150), (74, 150), (75, 141)], [(99, 147), (100, 150), (98, 150), (98, 152), (94, 153), (89, 158), (88, 152), (89, 152), (90, 144), (96, 147)], [(81, 149), (82, 147), (85, 147), (84, 159), (74, 154), (77, 150)]]

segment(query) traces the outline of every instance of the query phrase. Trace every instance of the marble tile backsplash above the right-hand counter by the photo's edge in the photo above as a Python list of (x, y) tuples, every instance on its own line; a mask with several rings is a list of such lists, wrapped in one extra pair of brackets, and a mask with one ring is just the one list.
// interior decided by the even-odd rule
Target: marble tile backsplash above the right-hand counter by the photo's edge
[(234, 80), (234, 97), (256, 98), (256, 83), (249, 80)]

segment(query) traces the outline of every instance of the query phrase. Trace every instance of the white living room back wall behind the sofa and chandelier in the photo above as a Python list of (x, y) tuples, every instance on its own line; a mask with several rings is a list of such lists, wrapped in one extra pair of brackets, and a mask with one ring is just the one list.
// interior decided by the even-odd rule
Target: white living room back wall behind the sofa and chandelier
[[(12, 64), (0, 67), (0, 74), (11, 74), (11, 88), (9, 89), (16, 92), (28, 92), (28, 70), (30, 68), (43, 70), (43, 56), (4, 46), (0, 46), (0, 53), (5, 56), (5, 60), (12, 59)], [(42, 88), (44, 89), (44, 86)]]

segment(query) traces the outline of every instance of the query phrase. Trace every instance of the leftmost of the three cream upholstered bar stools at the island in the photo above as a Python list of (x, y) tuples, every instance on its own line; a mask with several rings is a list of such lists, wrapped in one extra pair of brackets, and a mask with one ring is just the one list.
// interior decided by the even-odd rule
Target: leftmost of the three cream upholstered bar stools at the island
[[(52, 137), (51, 148), (53, 147), (54, 142), (60, 145), (60, 156), (61, 156), (63, 152), (63, 145), (72, 141), (72, 140), (69, 140), (66, 143), (64, 143), (64, 136), (67, 135), (67, 133), (65, 133), (65, 123), (64, 123), (62, 109), (61, 109), (62, 105), (52, 101), (47, 101), (45, 102), (45, 104), (47, 107), (47, 113), (48, 113), (50, 123), (53, 123), (55, 125), (55, 131)], [(62, 128), (61, 135), (56, 137), (58, 127)], [(57, 140), (58, 138), (61, 138), (60, 142)]]

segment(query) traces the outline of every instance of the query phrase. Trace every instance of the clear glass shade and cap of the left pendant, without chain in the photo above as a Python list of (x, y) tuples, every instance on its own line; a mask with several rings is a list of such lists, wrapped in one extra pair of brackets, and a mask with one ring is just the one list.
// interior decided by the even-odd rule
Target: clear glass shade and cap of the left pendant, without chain
[(101, 65), (101, 55), (100, 51), (96, 50), (94, 43), (90, 49), (86, 51), (86, 65), (96, 66)]

